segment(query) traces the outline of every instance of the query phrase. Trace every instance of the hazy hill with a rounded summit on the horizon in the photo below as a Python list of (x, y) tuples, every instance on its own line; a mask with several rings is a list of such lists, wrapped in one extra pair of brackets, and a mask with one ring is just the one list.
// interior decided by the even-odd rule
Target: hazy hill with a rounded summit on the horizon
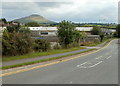
[(33, 14), (27, 17), (23, 17), (23, 18), (19, 18), (19, 19), (15, 19), (13, 20), (14, 22), (20, 22), (20, 23), (29, 23), (29, 22), (37, 22), (39, 24), (54, 24), (56, 22), (50, 21), (46, 18), (44, 18), (43, 16), (37, 15), (37, 14)]

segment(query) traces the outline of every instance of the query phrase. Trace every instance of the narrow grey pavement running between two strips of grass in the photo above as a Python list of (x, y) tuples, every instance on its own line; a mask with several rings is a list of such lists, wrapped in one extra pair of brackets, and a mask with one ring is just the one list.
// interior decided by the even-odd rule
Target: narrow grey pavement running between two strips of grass
[(9, 65), (16, 65), (16, 64), (20, 64), (20, 63), (25, 63), (25, 62), (31, 62), (31, 61), (37, 61), (37, 60), (41, 60), (41, 59), (46, 59), (46, 58), (53, 58), (53, 57), (58, 57), (58, 56), (64, 56), (64, 55), (68, 55), (68, 54), (74, 54), (74, 53), (79, 53), (79, 52), (84, 52), (93, 48), (100, 48), (104, 45), (105, 42), (94, 46), (94, 47), (87, 47), (87, 46), (83, 46), (86, 49), (82, 49), (82, 50), (76, 50), (76, 51), (71, 51), (71, 52), (66, 52), (66, 53), (60, 53), (60, 54), (54, 54), (54, 55), (48, 55), (48, 56), (40, 56), (40, 57), (35, 57), (35, 58), (26, 58), (26, 59), (20, 59), (20, 60), (13, 60), (13, 61), (5, 61), (2, 62), (2, 66), (9, 66)]

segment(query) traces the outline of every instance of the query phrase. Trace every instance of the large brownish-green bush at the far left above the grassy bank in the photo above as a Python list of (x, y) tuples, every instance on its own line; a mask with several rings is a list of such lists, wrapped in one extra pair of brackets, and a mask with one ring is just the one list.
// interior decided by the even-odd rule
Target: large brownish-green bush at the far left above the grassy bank
[(2, 54), (5, 56), (23, 55), (32, 51), (34, 40), (27, 34), (3, 33)]

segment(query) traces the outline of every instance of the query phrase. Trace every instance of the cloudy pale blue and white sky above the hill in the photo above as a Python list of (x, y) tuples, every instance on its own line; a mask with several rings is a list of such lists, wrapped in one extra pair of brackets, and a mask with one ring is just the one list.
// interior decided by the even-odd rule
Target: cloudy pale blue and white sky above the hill
[(49, 20), (68, 20), (79, 23), (117, 23), (119, 0), (4, 0), (0, 8), (8, 21), (41, 15)]

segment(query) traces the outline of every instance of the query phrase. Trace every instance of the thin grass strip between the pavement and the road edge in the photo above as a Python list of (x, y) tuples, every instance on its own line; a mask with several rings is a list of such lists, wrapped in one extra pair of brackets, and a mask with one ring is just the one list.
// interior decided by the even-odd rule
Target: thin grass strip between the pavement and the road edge
[(90, 50), (79, 52), (79, 53), (68, 54), (68, 55), (59, 56), (59, 57), (53, 57), (53, 58), (47, 58), (47, 59), (42, 59), (42, 60), (37, 60), (37, 61), (32, 61), (32, 62), (26, 62), (26, 63), (16, 64), (16, 65), (3, 66), (0, 69), (10, 69), (10, 68), (15, 68), (15, 67), (20, 67), (20, 66), (25, 66), (25, 65), (31, 65), (31, 64), (35, 64), (35, 63), (40, 63), (40, 62), (46, 62), (46, 61), (56, 60), (56, 59), (60, 59), (60, 58), (71, 56), (71, 55), (86, 53), (86, 52), (93, 51), (93, 50), (96, 50), (96, 49), (90, 49)]

